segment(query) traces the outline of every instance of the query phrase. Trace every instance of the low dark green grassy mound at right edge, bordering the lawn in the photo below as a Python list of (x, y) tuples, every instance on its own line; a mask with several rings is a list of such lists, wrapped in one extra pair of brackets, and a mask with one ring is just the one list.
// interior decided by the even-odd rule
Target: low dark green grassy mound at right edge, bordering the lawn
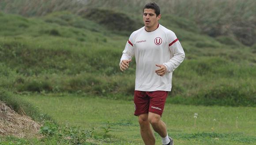
[(217, 84), (192, 94), (197, 105), (255, 106), (256, 90), (243, 85)]

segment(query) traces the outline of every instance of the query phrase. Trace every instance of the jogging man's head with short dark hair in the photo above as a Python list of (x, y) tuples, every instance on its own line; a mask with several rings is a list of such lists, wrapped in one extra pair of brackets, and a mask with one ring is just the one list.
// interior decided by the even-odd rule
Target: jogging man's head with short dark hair
[(158, 25), (158, 20), (161, 18), (160, 8), (156, 3), (146, 4), (143, 8), (143, 22), (148, 29)]

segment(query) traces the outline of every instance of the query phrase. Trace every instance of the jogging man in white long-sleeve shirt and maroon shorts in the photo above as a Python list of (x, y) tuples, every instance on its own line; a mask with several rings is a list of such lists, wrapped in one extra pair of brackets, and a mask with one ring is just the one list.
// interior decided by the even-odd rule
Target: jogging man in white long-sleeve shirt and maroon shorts
[(155, 144), (150, 124), (162, 137), (163, 145), (173, 145), (161, 116), (168, 91), (172, 88), (172, 72), (185, 57), (176, 35), (159, 25), (160, 18), (160, 8), (156, 3), (145, 5), (145, 26), (131, 34), (120, 59), (121, 71), (128, 69), (133, 56), (136, 59), (134, 115), (138, 116), (145, 145)]

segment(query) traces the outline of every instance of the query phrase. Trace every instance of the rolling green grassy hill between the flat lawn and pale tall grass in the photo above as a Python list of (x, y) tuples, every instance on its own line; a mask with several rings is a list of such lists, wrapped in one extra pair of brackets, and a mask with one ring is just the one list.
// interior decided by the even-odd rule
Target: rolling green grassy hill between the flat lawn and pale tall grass
[[(101, 14), (100, 10), (94, 12)], [(96, 18), (68, 11), (40, 18), (1, 13), (0, 86), (15, 92), (69, 92), (110, 98), (132, 95), (136, 65), (132, 63), (124, 73), (118, 66), (128, 30), (119, 34), (108, 27), (111, 22), (103, 25)], [(175, 21), (169, 23), (169, 19)], [(177, 34), (186, 53), (173, 74), (170, 102), (255, 105), (255, 82), (251, 81), (256, 72), (254, 47), (232, 37), (203, 35), (196, 24), (188, 23), (190, 20), (173, 15), (161, 20)], [(139, 28), (139, 23), (135, 27)]]

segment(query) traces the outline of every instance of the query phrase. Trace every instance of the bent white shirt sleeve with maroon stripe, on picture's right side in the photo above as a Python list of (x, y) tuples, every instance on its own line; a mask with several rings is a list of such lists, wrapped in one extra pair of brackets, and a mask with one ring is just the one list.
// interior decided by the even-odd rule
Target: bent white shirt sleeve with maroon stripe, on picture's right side
[(166, 66), (168, 73), (173, 72), (185, 58), (181, 43), (173, 32), (169, 34), (169, 50), (173, 57), (163, 64)]

